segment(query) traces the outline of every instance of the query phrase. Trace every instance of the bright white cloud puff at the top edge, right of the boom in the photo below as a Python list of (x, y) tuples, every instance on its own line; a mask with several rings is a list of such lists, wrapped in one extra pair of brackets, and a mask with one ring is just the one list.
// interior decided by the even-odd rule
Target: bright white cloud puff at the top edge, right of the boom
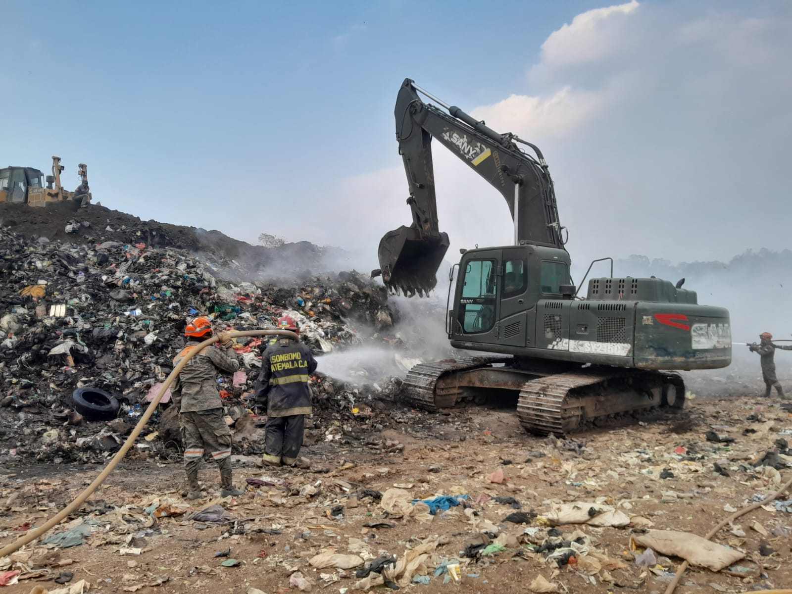
[(588, 10), (571, 23), (550, 33), (542, 44), (542, 62), (553, 66), (592, 63), (623, 48), (625, 36), (617, 33), (626, 17), (638, 10), (638, 2)]

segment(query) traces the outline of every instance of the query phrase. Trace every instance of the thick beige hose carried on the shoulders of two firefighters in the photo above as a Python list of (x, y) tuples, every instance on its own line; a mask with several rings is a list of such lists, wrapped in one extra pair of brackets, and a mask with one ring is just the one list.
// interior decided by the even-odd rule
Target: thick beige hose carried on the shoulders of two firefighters
[[(236, 338), (236, 337), (243, 337), (243, 336), (267, 336), (269, 334), (280, 334), (284, 337), (293, 338), (294, 340), (299, 341), (299, 337), (296, 333), (289, 332), (287, 330), (242, 330), (242, 331), (234, 331), (234, 332), (225, 332), (222, 333), (225, 337), (229, 338)], [(82, 491), (69, 505), (63, 508), (60, 512), (55, 514), (55, 516), (51, 517), (47, 520), (41, 527), (36, 528), (35, 530), (30, 530), (25, 532), (25, 535), (20, 536), (17, 540), (11, 543), (8, 546), (4, 546), (0, 549), (0, 558), (5, 557), (8, 554), (13, 553), (15, 550), (18, 550), (21, 546), (25, 546), (27, 543), (30, 543), (32, 540), (39, 538), (41, 535), (46, 534), (48, 531), (51, 530), (52, 527), (55, 527), (57, 524), (60, 524), (70, 513), (78, 510), (83, 503), (85, 503), (86, 499), (91, 496), (91, 494), (97, 489), (102, 482), (105, 481), (105, 478), (112, 472), (112, 469), (116, 467), (116, 464), (120, 463), (121, 459), (124, 458), (124, 455), (129, 451), (129, 448), (132, 447), (132, 444), (135, 443), (135, 440), (140, 435), (140, 432), (143, 431), (143, 427), (146, 426), (148, 420), (151, 418), (151, 415), (154, 414), (154, 409), (157, 408), (159, 401), (162, 399), (162, 396), (165, 395), (166, 390), (170, 387), (170, 384), (173, 383), (173, 379), (179, 374), (185, 364), (187, 364), (188, 360), (192, 359), (193, 356), (196, 356), (199, 352), (203, 351), (204, 348), (208, 347), (209, 345), (215, 344), (219, 339), (218, 336), (213, 336), (206, 341), (198, 343), (198, 348), (193, 348), (185, 358), (182, 359), (179, 364), (170, 372), (168, 379), (165, 380), (165, 383), (162, 384), (162, 387), (159, 389), (159, 392), (154, 397), (154, 400), (151, 401), (150, 405), (146, 409), (146, 412), (143, 413), (143, 416), (140, 417), (138, 424), (135, 425), (135, 428), (132, 429), (127, 440), (124, 442), (124, 445), (121, 446), (121, 449), (116, 452), (116, 455), (112, 457), (112, 460), (105, 466), (105, 470), (102, 470), (97, 478), (93, 479), (93, 482), (86, 487), (85, 490)]]

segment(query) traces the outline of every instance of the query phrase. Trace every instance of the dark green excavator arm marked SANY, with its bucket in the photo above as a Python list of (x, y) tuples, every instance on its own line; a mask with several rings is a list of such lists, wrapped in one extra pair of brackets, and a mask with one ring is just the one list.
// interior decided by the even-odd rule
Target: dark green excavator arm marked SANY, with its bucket
[[(422, 101), (418, 93), (447, 112)], [(497, 133), (458, 107), (432, 97), (409, 78), (399, 90), (394, 115), (413, 223), (388, 232), (379, 242), (380, 268), (372, 276), (381, 273), (391, 291), (409, 296), (431, 291), (448, 249), (448, 235), (440, 231), (437, 217), (433, 138), (501, 192), (515, 222), (515, 244), (563, 247), (553, 181), (539, 148), (516, 135)], [(531, 147), (536, 158), (517, 143)]]

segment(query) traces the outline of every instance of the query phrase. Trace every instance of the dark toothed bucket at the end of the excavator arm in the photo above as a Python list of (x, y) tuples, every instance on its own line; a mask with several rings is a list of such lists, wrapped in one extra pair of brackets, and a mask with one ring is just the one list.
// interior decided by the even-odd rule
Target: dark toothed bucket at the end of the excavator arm
[(437, 284), (435, 273), (447, 249), (445, 233), (426, 238), (416, 227), (403, 225), (389, 231), (377, 250), (383, 283), (390, 291), (408, 297), (428, 295)]

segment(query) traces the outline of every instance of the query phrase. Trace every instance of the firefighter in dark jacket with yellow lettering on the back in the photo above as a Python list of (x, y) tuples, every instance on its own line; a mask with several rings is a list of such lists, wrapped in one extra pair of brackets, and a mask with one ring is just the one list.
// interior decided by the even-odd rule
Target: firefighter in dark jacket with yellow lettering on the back
[[(299, 333), (294, 319), (278, 320), (278, 328)], [(265, 454), (262, 462), (269, 466), (307, 468), (299, 458), (303, 447), (305, 417), (311, 413), (308, 379), (316, 371), (310, 348), (291, 338), (280, 338), (261, 356), (256, 405), (267, 410)]]

